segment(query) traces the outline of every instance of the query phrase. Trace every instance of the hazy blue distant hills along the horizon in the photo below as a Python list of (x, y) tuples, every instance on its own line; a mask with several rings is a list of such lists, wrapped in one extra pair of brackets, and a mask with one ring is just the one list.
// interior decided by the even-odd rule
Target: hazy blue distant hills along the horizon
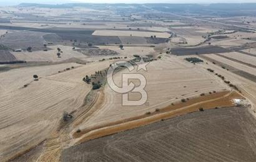
[(72, 8), (86, 7), (90, 9), (106, 9), (124, 12), (143, 12), (154, 9), (162, 12), (174, 12), (179, 14), (202, 14), (214, 16), (247, 16), (256, 15), (256, 3), (216, 3), (216, 4), (92, 4), (92, 3), (69, 3), (69, 4), (36, 4), (21, 3), (19, 7), (47, 7), (47, 8)]

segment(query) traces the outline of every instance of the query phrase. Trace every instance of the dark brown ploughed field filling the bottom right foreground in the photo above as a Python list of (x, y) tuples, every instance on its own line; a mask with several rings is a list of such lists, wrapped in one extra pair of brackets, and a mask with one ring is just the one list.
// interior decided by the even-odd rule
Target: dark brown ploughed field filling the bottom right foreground
[(62, 161), (256, 161), (247, 108), (205, 110), (72, 146)]

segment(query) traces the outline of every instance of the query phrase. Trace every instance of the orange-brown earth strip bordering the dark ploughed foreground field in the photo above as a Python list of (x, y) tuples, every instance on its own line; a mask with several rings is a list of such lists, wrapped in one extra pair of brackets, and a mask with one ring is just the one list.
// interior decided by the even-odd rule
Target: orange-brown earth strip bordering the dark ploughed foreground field
[[(143, 125), (152, 124), (164, 119), (170, 119), (179, 115), (189, 114), (202, 109), (214, 109), (215, 107), (235, 106), (234, 99), (244, 99), (235, 91), (217, 92), (207, 96), (195, 97), (187, 102), (175, 103), (162, 109), (155, 109), (150, 114), (134, 116), (129, 119), (117, 120), (115, 122), (99, 125), (98, 127), (87, 128), (79, 133), (74, 133), (77, 143), (87, 142), (99, 137), (130, 130)], [(75, 141), (77, 141), (75, 140)]]

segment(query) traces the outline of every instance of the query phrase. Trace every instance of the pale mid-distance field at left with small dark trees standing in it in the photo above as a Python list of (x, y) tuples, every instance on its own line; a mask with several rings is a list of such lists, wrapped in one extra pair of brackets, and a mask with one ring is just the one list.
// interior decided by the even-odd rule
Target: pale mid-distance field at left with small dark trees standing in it
[[(35, 52), (12, 52), (17, 60), (24, 60), (24, 61), (64, 61), (70, 58), (79, 58), (85, 59), (87, 56), (83, 55), (76, 50), (72, 50), (72, 47), (64, 46), (64, 45), (56, 45), (56, 46), (49, 46), (47, 47), (47, 51), (35, 51)], [(50, 49), (49, 49), (50, 48)], [(57, 56), (57, 48), (60, 48), (62, 53), (61, 56)]]

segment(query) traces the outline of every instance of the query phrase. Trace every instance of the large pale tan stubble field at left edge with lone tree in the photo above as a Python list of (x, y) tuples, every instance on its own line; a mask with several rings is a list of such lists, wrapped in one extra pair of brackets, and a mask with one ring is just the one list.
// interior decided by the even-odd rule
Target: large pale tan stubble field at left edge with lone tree
[[(51, 130), (59, 125), (59, 119), (65, 110), (71, 112), (84, 103), (84, 97), (91, 86), (84, 83), (82, 78), (108, 67), (109, 62), (82, 65), (52, 74), (55, 66), (59, 65), (0, 73), (1, 160), (22, 153), (49, 137)], [(71, 64), (61, 66), (70, 68)], [(55, 70), (59, 68), (56, 67)], [(43, 76), (46, 71), (49, 76)], [(26, 88), (21, 88), (21, 85), (32, 80), (32, 74), (35, 73), (39, 75), (39, 81), (32, 81)]]

